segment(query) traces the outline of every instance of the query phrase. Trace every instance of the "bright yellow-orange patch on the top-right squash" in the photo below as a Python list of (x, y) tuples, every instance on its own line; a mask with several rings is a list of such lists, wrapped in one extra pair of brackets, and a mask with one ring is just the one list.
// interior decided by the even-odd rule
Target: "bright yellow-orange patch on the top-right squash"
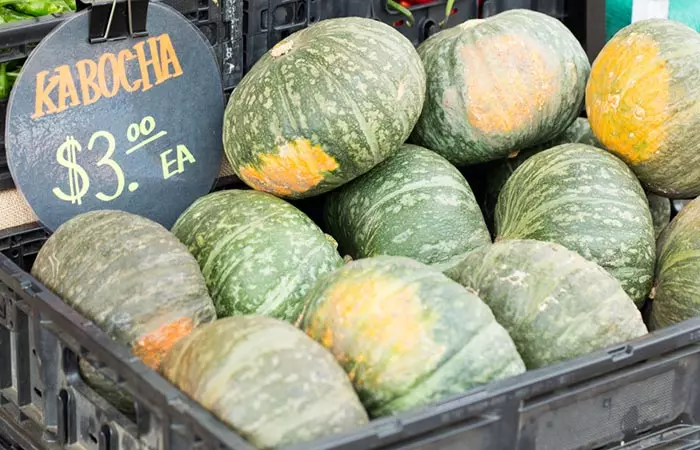
[(653, 158), (667, 136), (670, 80), (652, 37), (613, 38), (586, 86), (586, 111), (596, 137), (630, 164)]

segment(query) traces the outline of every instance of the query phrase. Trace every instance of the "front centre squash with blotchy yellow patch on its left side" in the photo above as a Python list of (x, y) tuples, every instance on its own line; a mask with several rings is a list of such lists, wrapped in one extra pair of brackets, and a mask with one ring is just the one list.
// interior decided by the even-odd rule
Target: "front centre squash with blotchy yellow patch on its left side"
[(372, 417), (525, 370), (479, 297), (409, 258), (350, 262), (306, 301), (303, 329), (335, 355)]

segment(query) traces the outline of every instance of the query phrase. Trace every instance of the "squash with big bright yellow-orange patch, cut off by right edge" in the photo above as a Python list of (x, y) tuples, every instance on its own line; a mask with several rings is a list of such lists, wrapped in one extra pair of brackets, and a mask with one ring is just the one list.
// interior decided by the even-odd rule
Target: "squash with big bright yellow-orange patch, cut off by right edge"
[(593, 132), (653, 193), (700, 194), (700, 35), (662, 19), (623, 28), (586, 88)]

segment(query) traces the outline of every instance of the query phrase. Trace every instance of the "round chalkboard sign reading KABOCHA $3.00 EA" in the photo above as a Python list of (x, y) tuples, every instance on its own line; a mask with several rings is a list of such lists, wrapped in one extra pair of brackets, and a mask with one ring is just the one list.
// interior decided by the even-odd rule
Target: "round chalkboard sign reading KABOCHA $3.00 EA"
[(55, 230), (96, 209), (170, 228), (213, 186), (224, 95), (210, 44), (177, 11), (148, 7), (148, 35), (91, 44), (89, 11), (55, 28), (10, 95), (12, 178)]

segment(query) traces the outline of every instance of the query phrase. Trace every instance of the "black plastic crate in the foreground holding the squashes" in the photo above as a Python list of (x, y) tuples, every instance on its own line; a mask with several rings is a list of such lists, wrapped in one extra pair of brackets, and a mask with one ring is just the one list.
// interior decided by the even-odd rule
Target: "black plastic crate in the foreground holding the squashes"
[[(0, 445), (250, 450), (5, 256), (35, 254), (46, 236), (0, 234), (0, 360), (11, 364), (0, 365)], [(135, 418), (81, 381), (78, 357), (139, 399)], [(700, 448), (698, 380), (700, 318), (290, 450)]]

